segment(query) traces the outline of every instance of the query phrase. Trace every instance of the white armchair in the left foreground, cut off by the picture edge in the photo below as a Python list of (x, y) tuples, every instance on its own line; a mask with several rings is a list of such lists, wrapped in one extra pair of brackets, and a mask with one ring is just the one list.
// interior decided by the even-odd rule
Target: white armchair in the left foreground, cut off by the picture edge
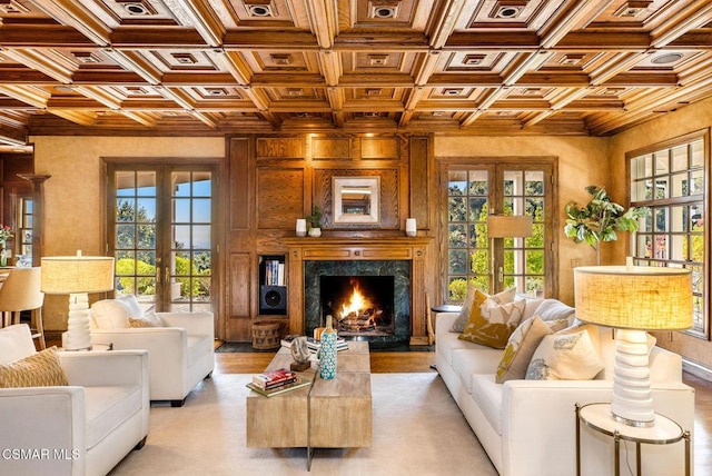
[[(34, 355), (26, 324), (0, 329), (0, 364)], [(148, 435), (148, 353), (60, 351), (69, 386), (0, 388), (0, 474), (102, 476)]]

